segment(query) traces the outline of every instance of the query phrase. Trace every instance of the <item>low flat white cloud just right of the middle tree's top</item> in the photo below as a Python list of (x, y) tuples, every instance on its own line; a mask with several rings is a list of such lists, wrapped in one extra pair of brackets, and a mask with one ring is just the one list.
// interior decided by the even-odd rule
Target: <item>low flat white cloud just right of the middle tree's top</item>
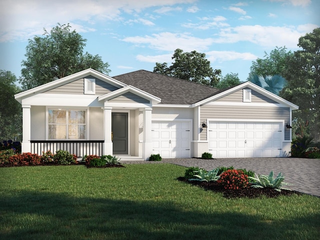
[(211, 61), (231, 61), (231, 60), (255, 60), (256, 55), (250, 52), (236, 52), (236, 51), (208, 51), (205, 52), (206, 58)]

